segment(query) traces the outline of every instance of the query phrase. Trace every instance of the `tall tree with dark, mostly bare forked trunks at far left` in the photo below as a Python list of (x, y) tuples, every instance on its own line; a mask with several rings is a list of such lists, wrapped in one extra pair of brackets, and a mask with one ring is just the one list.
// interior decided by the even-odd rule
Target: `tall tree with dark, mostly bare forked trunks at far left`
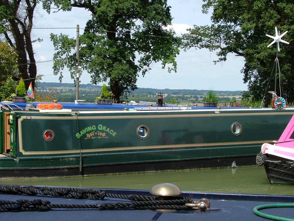
[(25, 80), (26, 89), (29, 88), (30, 82), (34, 89), (37, 75), (32, 43), (41, 39), (32, 40), (31, 31), (34, 11), (38, 3), (39, 0), (0, 0), (0, 35), (15, 48), (18, 54), (18, 69), (21, 75), (15, 76), (14, 80), (22, 77)]

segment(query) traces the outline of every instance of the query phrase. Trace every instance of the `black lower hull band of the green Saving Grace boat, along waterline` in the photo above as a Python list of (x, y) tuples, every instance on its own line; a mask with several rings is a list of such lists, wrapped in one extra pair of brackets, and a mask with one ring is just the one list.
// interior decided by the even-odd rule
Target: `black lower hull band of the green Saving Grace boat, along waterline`
[[(69, 158), (58, 161), (68, 161)], [(46, 177), (73, 177), (117, 173), (146, 173), (156, 171), (176, 171), (203, 168), (227, 168), (238, 162), (238, 166), (252, 166), (255, 156), (218, 157), (188, 160), (166, 160), (160, 162), (141, 161), (127, 163), (103, 163), (83, 165), (78, 160), (71, 166), (31, 167), (31, 168), (1, 168), (1, 178), (46, 178)], [(34, 161), (34, 163), (38, 163)]]

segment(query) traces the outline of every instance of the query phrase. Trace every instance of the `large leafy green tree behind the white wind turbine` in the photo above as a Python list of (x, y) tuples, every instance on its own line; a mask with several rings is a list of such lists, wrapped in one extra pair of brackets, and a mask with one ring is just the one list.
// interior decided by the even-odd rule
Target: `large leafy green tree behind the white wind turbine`
[[(268, 96), (268, 90), (274, 90), (275, 73), (273, 70), (276, 45), (267, 48), (273, 40), (265, 34), (275, 35), (275, 26), (280, 33), (288, 30), (283, 40), (293, 42), (294, 38), (294, 3), (290, 0), (280, 1), (247, 1), (247, 0), (203, 0), (203, 13), (213, 9), (211, 26), (196, 26), (184, 34), (184, 48), (208, 48), (216, 51), (218, 60), (223, 62), (230, 53), (244, 58), (243, 73), (244, 83), (248, 83), (248, 89), (255, 99)], [(278, 53), (280, 58), (281, 80), (284, 83), (284, 92), (287, 98), (294, 100), (294, 48), (281, 43)]]

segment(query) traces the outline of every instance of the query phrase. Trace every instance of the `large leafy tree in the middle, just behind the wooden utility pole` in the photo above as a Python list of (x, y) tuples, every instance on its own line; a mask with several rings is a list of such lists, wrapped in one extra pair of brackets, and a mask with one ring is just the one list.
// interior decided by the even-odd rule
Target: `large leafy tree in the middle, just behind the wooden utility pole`
[[(144, 76), (154, 62), (161, 62), (163, 67), (171, 64), (168, 71), (176, 71), (181, 38), (164, 28), (172, 20), (167, 0), (44, 0), (43, 7), (48, 13), (51, 4), (58, 10), (79, 7), (92, 12), (79, 38), (80, 65), (91, 74), (93, 84), (109, 81), (114, 100), (119, 101), (121, 95), (126, 98), (129, 89), (135, 90), (138, 74)], [(62, 70), (67, 67), (74, 77), (75, 39), (51, 34), (51, 40), (57, 50), (54, 74), (61, 73), (61, 80)]]

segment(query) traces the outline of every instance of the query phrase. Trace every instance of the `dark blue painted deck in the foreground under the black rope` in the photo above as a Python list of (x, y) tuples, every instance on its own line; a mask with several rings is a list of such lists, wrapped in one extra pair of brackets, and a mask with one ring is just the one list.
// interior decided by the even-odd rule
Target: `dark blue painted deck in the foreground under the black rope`
[[(105, 189), (103, 189), (105, 190)], [(107, 193), (123, 195), (150, 195), (143, 190), (106, 190)], [(266, 220), (253, 213), (258, 205), (272, 203), (293, 203), (294, 196), (246, 195), (220, 193), (184, 192), (182, 196), (210, 200), (211, 208), (206, 212), (174, 211), (162, 212), (152, 210), (98, 210), (98, 209), (51, 209), (48, 212), (3, 212), (1, 220)], [(16, 201), (19, 199), (48, 200), (51, 204), (99, 204), (130, 202), (123, 199), (105, 198), (104, 200), (78, 200), (55, 197), (26, 195), (0, 195), (0, 200)], [(274, 208), (261, 210), (264, 213), (294, 218), (294, 208)]]

